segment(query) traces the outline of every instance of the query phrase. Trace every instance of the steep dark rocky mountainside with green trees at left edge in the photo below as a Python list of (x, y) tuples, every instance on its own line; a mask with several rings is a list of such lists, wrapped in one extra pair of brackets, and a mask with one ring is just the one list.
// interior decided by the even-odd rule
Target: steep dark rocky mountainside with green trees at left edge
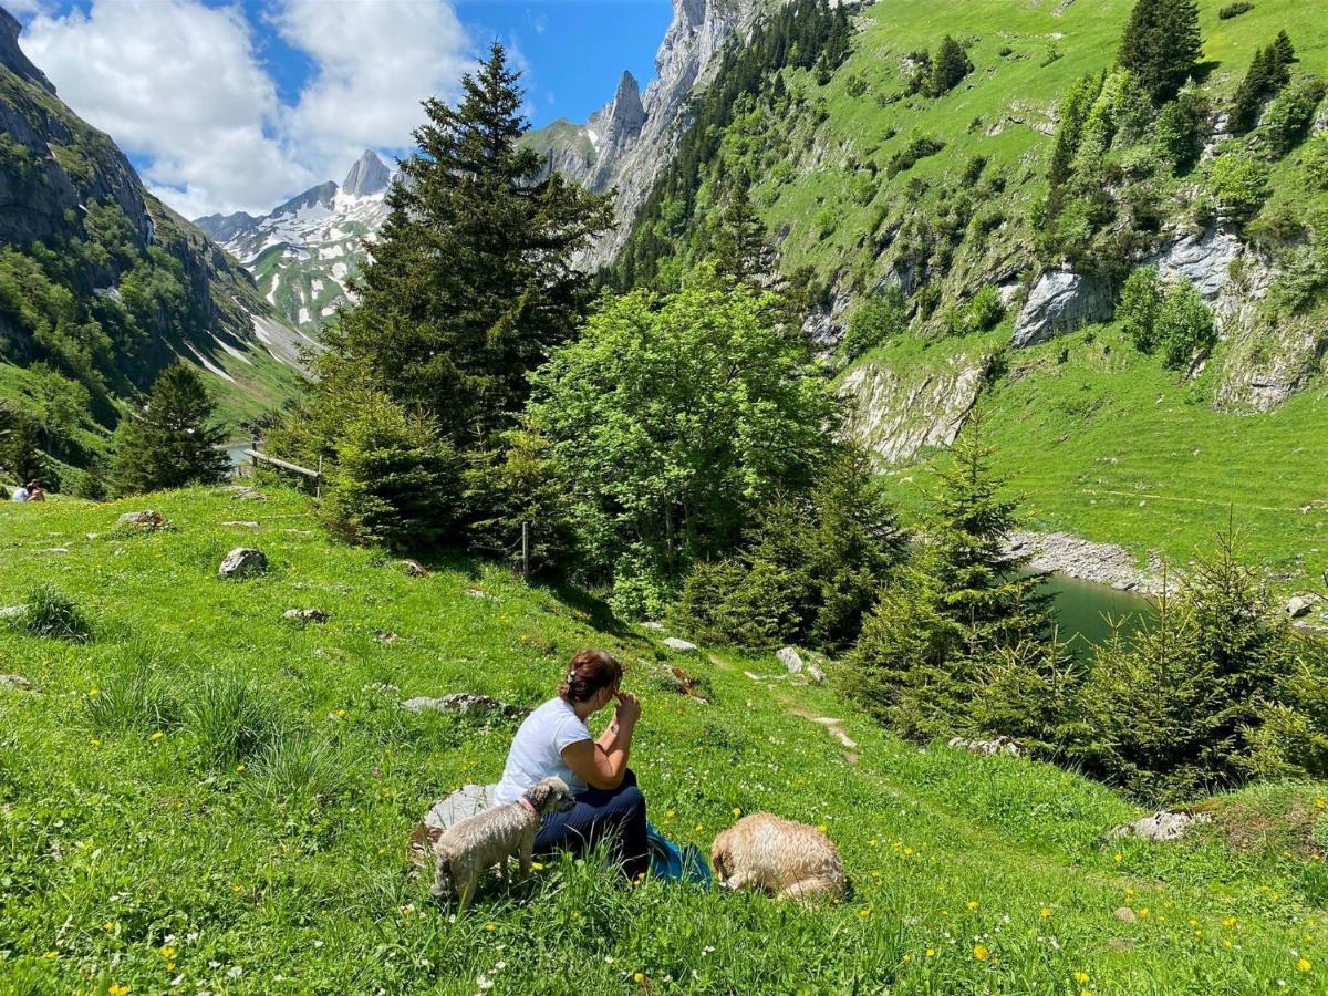
[(101, 454), (175, 357), (207, 372), (230, 420), (279, 406), (299, 382), (279, 348), (295, 333), (65, 106), (17, 39), (0, 9), (0, 401), (65, 466)]

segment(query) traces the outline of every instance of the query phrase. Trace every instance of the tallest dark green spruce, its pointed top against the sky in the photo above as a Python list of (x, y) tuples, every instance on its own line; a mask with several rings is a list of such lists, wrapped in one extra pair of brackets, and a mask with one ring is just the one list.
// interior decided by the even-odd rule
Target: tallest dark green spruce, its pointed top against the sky
[(324, 392), (381, 390), (463, 450), (511, 425), (527, 374), (567, 339), (587, 287), (574, 256), (611, 218), (519, 145), (518, 78), (494, 42), (456, 108), (425, 101), (360, 304), (320, 360)]

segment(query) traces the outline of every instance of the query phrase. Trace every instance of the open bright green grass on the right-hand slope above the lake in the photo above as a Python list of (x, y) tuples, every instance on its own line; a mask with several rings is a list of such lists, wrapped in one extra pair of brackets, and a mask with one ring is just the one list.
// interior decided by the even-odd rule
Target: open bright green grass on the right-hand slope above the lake
[[(1328, 72), (1328, 37), (1292, 0), (1262, 0), (1227, 21), (1216, 17), (1220, 5), (1218, 0), (1199, 4), (1204, 58), (1214, 64), (1206, 81), (1211, 93), (1231, 93), (1255, 48), (1283, 27), (1296, 42), (1297, 72)], [(809, 97), (823, 97), (830, 113), (815, 129), (807, 120), (791, 124), (786, 145), (803, 150), (795, 175), (781, 183), (765, 170), (757, 186), (768, 227), (789, 231), (781, 247), (785, 268), (811, 264), (822, 275), (861, 274), (870, 286), (890, 258), (887, 252), (878, 259), (870, 235), (887, 231), (904, 210), (910, 178), (932, 181), (923, 195), (923, 203), (930, 203), (943, 186), (939, 181), (948, 175), (952, 182), (975, 154), (988, 157), (989, 169), (1005, 169), (1009, 186), (1001, 206), (1015, 220), (981, 244), (965, 243), (956, 258), (957, 272), (980, 272), (1007, 252), (1028, 258), (1029, 236), (1017, 219), (1044, 190), (1050, 139), (1021, 125), (1007, 124), (997, 135), (987, 131), (1008, 116), (1049, 122), (1054, 102), (1073, 80), (1110, 64), (1130, 4), (1076, 3), (1062, 15), (1054, 15), (1053, 7), (977, 0), (956, 15), (935, 3), (899, 0), (869, 8), (871, 24), (830, 84), (818, 88), (810, 77), (801, 77)], [(878, 93), (903, 89), (899, 60), (915, 49), (934, 49), (946, 32), (972, 41), (975, 73), (939, 100), (915, 97), (880, 106)], [(1061, 57), (1044, 66), (1050, 44)], [(1000, 56), (1005, 45), (1013, 50)], [(847, 93), (854, 76), (869, 85), (857, 98)], [(975, 120), (980, 124), (971, 127)], [(890, 129), (898, 134), (887, 139)], [(915, 134), (940, 137), (947, 147), (894, 179), (886, 179), (882, 170), (872, 199), (857, 203), (845, 169), (850, 157), (883, 166)], [(726, 147), (732, 151), (741, 141), (730, 135)], [(1272, 182), (1267, 210), (1287, 205), (1291, 214), (1304, 216), (1309, 193), (1295, 155), (1275, 167)], [(817, 224), (822, 218), (833, 219), (825, 238)], [(1008, 331), (1007, 323), (1005, 336)], [(1147, 550), (1161, 550), (1183, 563), (1211, 543), (1230, 505), (1252, 555), (1282, 574), (1300, 578), (1303, 572), (1313, 583), (1328, 568), (1328, 544), (1320, 542), (1328, 519), (1321, 489), (1328, 456), (1323, 382), (1315, 381), (1271, 414), (1218, 414), (1207, 404), (1214, 390), (1210, 381), (1181, 382), (1112, 331), (1098, 331), (1096, 340), (1089, 343), (1082, 333), (1066, 340), (1069, 363), (1064, 365), (1056, 363), (1062, 343), (1012, 353), (1012, 369), (1024, 368), (1027, 376), (999, 382), (984, 402), (1000, 465), (1029, 495), (1032, 525), (1120, 542), (1141, 559)], [(1110, 344), (1109, 356), (1102, 355), (1102, 344)], [(919, 364), (927, 369), (961, 348), (972, 349), (973, 343), (922, 347), (906, 341), (872, 356), (900, 369)], [(915, 498), (911, 485), (924, 481), (926, 470), (898, 469), (895, 478), (903, 481), (899, 490), (908, 502)], [(1286, 580), (1297, 587), (1297, 580)], [(1300, 579), (1299, 586), (1304, 584)]]

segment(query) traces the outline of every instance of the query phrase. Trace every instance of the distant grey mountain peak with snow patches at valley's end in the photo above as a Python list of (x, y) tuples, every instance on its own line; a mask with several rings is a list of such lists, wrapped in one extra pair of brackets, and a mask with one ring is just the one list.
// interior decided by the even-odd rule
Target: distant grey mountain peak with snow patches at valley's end
[(262, 218), (208, 215), (195, 224), (252, 275), (268, 305), (313, 341), (349, 288), (386, 222), (392, 170), (365, 150), (337, 186), (319, 183)]

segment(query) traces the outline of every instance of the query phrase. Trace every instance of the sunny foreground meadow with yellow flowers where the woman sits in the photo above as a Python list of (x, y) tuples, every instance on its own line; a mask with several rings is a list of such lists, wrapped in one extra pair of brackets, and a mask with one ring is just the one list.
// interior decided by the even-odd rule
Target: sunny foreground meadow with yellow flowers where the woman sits
[[(174, 527), (113, 533), (121, 511), (145, 505)], [(830, 691), (776, 677), (772, 660), (673, 661), (575, 592), (467, 562), (410, 579), (373, 551), (329, 546), (303, 498), (0, 506), (0, 604), (49, 578), (97, 633), (69, 645), (0, 629), (0, 671), (42, 691), (0, 688), (0, 991), (137, 993), (181, 976), (224, 992), (473, 992), (485, 976), (498, 992), (598, 993), (639, 989), (637, 972), (656, 989), (697, 992), (1248, 993), (1328, 981), (1317, 954), (1328, 879), (1303, 838), (1263, 841), (1251, 821), (1239, 854), (1214, 841), (1102, 850), (1101, 831), (1134, 810), (1101, 786), (1015, 758), (919, 752)], [(70, 552), (41, 552), (56, 544)], [(240, 544), (264, 548), (271, 574), (218, 580)], [(280, 619), (307, 606), (331, 622)], [(409, 827), (440, 794), (497, 778), (513, 726), (408, 714), (396, 699), (474, 691), (534, 704), (587, 644), (622, 655), (643, 692), (633, 766), (655, 822), (705, 849), (734, 809), (823, 823), (853, 900), (805, 910), (625, 888), (566, 863), (511, 894), (490, 883), (459, 923), (432, 906), (428, 884), (406, 875)], [(208, 764), (199, 721), (169, 704), (161, 720), (93, 725), (90, 689), (110, 696), (135, 653), (155, 657), (169, 696), (186, 703), (210, 675), (252, 681), (271, 718), (320, 745), (321, 784), (341, 789), (315, 801), (293, 778), (266, 793), (262, 756), (243, 770)], [(671, 663), (709, 684), (709, 704), (663, 689)], [(791, 709), (842, 717), (861, 761)], [(1312, 786), (1260, 791), (1234, 802), (1299, 814), (1288, 826), (1301, 830), (1321, 807)], [(1116, 916), (1123, 906), (1139, 911), (1134, 923)]]

